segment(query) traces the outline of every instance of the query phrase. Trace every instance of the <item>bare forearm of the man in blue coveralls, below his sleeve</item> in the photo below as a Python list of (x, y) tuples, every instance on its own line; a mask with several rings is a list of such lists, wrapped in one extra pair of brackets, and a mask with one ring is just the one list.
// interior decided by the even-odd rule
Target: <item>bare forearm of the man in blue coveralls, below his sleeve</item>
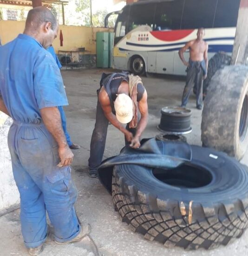
[(68, 147), (65, 133), (61, 124), (61, 117), (57, 107), (40, 109), (41, 117), (48, 131), (57, 141), (59, 148)]

